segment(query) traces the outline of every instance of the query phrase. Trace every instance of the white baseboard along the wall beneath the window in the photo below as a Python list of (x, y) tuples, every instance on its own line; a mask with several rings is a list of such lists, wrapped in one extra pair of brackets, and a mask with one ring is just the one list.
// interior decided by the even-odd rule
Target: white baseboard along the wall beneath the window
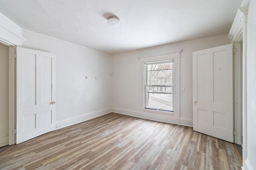
[[(172, 123), (172, 124), (176, 124), (176, 125), (185, 125), (185, 126), (192, 126), (193, 125), (193, 120), (189, 119), (189, 118), (182, 118), (181, 119), (177, 119), (172, 117), (171, 115), (153, 115), (150, 114), (150, 117), (143, 117), (141, 116), (140, 112), (138, 111), (133, 111), (133, 110), (127, 110), (127, 109), (121, 109), (121, 108), (113, 108), (113, 112), (114, 113), (120, 113), (123, 115), (129, 115), (129, 116), (133, 116), (133, 117), (139, 117), (142, 119), (148, 119), (148, 120), (154, 120), (154, 121), (161, 121), (161, 122), (165, 122), (165, 123)], [(144, 113), (146, 114), (146, 113)]]

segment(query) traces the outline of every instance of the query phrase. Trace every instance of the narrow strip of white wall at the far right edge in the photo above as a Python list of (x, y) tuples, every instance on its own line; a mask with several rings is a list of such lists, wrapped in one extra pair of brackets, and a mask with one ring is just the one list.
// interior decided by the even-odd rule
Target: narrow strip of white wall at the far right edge
[[(247, 32), (247, 158), (256, 170), (256, 1), (250, 0)], [(250, 169), (250, 168), (249, 168)]]

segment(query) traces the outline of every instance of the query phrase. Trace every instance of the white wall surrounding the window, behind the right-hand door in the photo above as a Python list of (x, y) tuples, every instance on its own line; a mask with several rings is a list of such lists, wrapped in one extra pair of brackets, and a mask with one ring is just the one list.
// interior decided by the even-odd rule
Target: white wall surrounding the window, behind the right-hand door
[[(120, 53), (113, 55), (113, 110), (114, 112), (144, 117), (140, 113), (140, 55), (182, 49), (180, 54), (180, 117), (181, 124), (192, 125), (192, 52), (229, 44), (227, 35), (218, 35), (192, 41)], [(182, 92), (184, 90), (185, 92)], [(168, 115), (157, 114), (150, 119), (166, 120)], [(168, 122), (172, 122), (169, 120)], [(174, 121), (172, 122), (174, 123)]]

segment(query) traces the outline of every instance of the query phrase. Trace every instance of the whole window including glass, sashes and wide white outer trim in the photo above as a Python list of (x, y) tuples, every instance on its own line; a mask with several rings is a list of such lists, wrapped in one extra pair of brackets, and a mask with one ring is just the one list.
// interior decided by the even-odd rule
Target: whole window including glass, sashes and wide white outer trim
[[(182, 49), (154, 51), (155, 53), (144, 54), (138, 57), (140, 59), (140, 117), (181, 123), (181, 51)], [(167, 66), (164, 67), (163, 65)], [(150, 72), (157, 75), (155, 79), (153, 78), (154, 81), (152, 80), (151, 82), (149, 81)], [(163, 72), (168, 72), (169, 75), (166, 74), (161, 77), (160, 73), (162, 74)], [(134, 113), (131, 112), (130, 114)]]

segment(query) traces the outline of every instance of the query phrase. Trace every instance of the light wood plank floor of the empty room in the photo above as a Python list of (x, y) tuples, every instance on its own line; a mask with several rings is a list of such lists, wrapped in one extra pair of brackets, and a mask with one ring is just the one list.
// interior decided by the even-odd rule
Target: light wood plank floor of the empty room
[(192, 127), (117, 113), (58, 129), (0, 153), (0, 169), (236, 170), (232, 143)]

